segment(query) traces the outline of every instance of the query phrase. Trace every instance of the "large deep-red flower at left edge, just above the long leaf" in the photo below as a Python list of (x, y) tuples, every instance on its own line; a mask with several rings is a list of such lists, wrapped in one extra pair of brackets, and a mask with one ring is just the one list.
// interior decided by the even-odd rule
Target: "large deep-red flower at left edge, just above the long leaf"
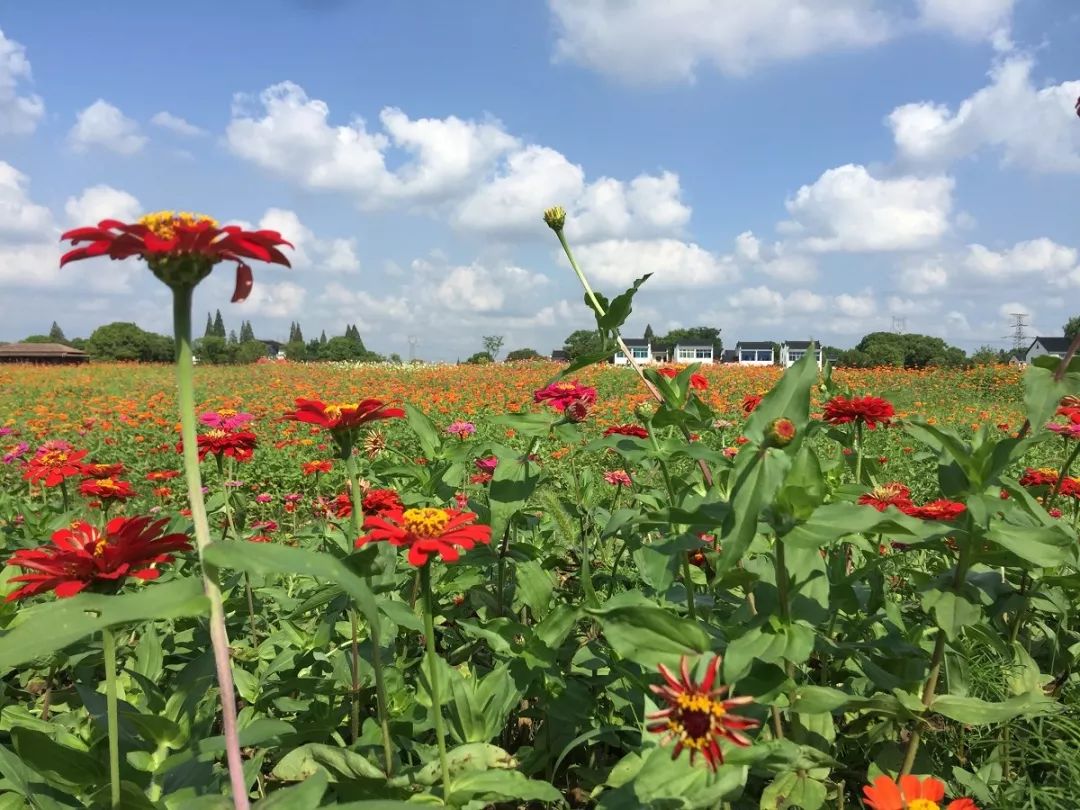
[(99, 585), (114, 591), (127, 577), (157, 579), (160, 563), (173, 562), (173, 552), (190, 551), (187, 535), (162, 535), (168, 521), (150, 517), (117, 517), (103, 535), (96, 526), (78, 521), (53, 534), (52, 545), (19, 549), (8, 561), (32, 573), (13, 577), (25, 582), (8, 596), (8, 602), (55, 591), (57, 596), (75, 596), (85, 588)]

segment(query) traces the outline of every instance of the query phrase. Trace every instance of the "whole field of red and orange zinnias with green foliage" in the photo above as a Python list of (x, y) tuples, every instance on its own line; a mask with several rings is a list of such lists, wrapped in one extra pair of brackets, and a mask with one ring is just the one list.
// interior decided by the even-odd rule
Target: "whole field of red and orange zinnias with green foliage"
[(1080, 374), (661, 370), (195, 369), (238, 781), (174, 369), (0, 367), (0, 807), (1071, 807)]

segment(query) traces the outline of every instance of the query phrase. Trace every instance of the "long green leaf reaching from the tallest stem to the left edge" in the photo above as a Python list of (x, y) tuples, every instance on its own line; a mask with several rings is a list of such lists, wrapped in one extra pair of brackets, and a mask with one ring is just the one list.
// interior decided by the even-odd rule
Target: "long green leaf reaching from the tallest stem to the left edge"
[(202, 616), (208, 611), (198, 577), (140, 585), (118, 595), (83, 593), (21, 611), (0, 635), (0, 661), (18, 666), (62, 650), (105, 627), (147, 621)]

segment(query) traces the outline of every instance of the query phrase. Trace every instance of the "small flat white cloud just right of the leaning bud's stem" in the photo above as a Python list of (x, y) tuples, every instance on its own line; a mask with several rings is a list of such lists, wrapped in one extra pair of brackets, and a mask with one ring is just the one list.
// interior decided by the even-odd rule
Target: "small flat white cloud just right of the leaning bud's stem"
[(645, 273), (652, 273), (648, 289), (707, 287), (739, 276), (729, 257), (675, 239), (606, 240), (582, 245), (577, 255), (592, 280), (611, 286), (627, 287)]

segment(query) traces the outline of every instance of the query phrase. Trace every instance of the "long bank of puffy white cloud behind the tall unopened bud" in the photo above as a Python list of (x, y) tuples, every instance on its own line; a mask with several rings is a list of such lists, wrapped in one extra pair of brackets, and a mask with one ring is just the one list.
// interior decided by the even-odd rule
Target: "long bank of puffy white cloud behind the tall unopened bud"
[[(361, 119), (332, 125), (325, 102), (284, 82), (255, 109), (240, 98), (227, 130), (239, 157), (300, 186), (352, 195), (363, 208), (434, 210), (457, 228), (496, 239), (543, 238), (541, 213), (561, 204), (576, 240), (673, 235), (690, 218), (678, 176), (600, 177), (550, 147), (525, 144), (498, 121), (379, 114), (381, 132)], [(396, 164), (394, 168), (388, 164)]]

